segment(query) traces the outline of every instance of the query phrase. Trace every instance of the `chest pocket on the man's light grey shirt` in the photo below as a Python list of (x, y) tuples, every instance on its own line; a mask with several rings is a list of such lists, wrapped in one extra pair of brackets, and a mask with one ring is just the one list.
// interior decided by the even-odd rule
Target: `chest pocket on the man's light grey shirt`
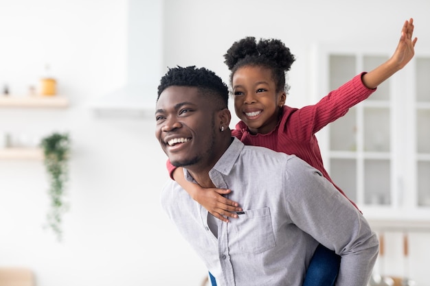
[(247, 210), (235, 220), (240, 250), (258, 254), (275, 247), (269, 207)]

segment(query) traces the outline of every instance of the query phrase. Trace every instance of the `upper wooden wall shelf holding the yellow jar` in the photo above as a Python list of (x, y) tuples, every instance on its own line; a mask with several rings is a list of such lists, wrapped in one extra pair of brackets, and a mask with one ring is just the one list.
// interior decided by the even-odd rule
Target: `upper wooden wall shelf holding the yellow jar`
[(0, 95), (0, 108), (65, 108), (69, 100), (60, 95), (54, 96), (14, 96)]

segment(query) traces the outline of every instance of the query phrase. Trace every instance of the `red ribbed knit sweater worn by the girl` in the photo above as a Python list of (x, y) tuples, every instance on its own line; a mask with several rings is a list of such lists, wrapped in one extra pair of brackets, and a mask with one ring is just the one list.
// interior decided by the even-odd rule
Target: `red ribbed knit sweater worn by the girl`
[[(284, 106), (278, 125), (267, 134), (252, 135), (245, 123), (240, 121), (236, 124), (236, 129), (231, 130), (231, 135), (236, 136), (245, 145), (262, 146), (276, 152), (295, 154), (321, 171), (323, 176), (345, 195), (324, 169), (315, 133), (328, 123), (346, 115), (349, 108), (362, 102), (376, 91), (376, 88), (369, 89), (364, 86), (361, 81), (362, 75), (363, 73), (356, 75), (337, 90), (328, 93), (315, 105), (303, 108)], [(170, 177), (172, 177), (175, 167), (170, 164), (169, 160), (167, 167)], [(354, 204), (351, 200), (350, 202)], [(354, 206), (357, 207), (356, 204)]]

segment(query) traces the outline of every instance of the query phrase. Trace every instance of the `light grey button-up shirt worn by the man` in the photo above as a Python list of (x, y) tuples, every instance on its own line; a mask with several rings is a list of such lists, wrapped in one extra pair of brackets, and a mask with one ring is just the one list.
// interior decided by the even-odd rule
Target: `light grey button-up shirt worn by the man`
[[(186, 170), (185, 178), (192, 180)], [(209, 219), (217, 237), (212, 215), (176, 182), (163, 189), (161, 204), (219, 286), (302, 285), (318, 243), (342, 257), (337, 285), (367, 285), (378, 239), (317, 169), (234, 138), (210, 178), (243, 208), (229, 223)]]

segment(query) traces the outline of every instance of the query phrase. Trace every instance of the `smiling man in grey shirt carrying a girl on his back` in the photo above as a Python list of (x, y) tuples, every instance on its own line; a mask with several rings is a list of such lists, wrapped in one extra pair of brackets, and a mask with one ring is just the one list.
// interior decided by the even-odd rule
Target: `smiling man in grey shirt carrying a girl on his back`
[(218, 286), (302, 285), (318, 243), (341, 256), (337, 285), (367, 285), (378, 240), (357, 208), (296, 156), (232, 138), (227, 86), (212, 71), (170, 69), (161, 78), (156, 137), (185, 178), (231, 189), (243, 211), (228, 224), (173, 180), (161, 195), (170, 219)]

